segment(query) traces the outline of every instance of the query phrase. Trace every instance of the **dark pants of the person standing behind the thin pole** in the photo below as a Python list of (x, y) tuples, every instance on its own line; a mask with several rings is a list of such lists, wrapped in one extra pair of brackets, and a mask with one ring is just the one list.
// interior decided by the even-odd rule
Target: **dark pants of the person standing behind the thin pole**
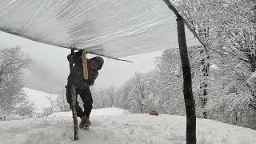
[[(81, 107), (78, 106), (78, 102), (77, 102), (76, 110), (77, 110), (78, 117), (81, 118), (84, 115), (86, 115), (89, 118), (91, 109), (93, 108), (93, 98), (91, 97), (91, 94), (90, 94), (90, 88), (88, 87), (82, 90), (75, 89), (75, 92), (76, 92), (75, 94), (76, 98), (78, 98), (78, 94), (80, 95), (80, 98), (82, 99), (82, 102), (83, 102), (83, 107), (85, 109), (84, 111), (82, 111)], [(71, 97), (70, 84), (66, 85), (66, 100), (70, 104), (70, 108), (71, 108), (72, 97)]]

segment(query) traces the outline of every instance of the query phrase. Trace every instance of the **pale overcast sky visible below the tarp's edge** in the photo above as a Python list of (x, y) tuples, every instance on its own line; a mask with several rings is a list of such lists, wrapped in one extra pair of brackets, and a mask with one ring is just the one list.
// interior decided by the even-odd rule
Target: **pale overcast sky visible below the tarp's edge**
[[(34, 61), (50, 66), (54, 73), (60, 74), (61, 77), (63, 75), (63, 82), (66, 82), (66, 76), (69, 74), (69, 63), (66, 60), (66, 55), (70, 54), (70, 50), (33, 42), (26, 38), (19, 38), (3, 32), (0, 32), (0, 39), (1, 48), (17, 45), (22, 46), (22, 50), (30, 54), (30, 57)], [(104, 58), (105, 63), (102, 70), (99, 71), (95, 86), (100, 88), (121, 86), (129, 78), (133, 77), (135, 72), (145, 73), (153, 70), (155, 58), (161, 56), (161, 54), (162, 51), (158, 51), (124, 58), (134, 63), (119, 62), (110, 58)], [(88, 54), (89, 58), (93, 56), (94, 55)]]

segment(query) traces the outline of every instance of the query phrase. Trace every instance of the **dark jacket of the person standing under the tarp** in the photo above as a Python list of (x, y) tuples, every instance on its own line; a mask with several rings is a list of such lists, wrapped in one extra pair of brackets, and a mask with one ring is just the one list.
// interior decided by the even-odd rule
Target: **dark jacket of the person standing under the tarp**
[[(70, 71), (68, 82), (71, 82), (70, 78), (72, 77), (72, 79), (73, 79), (72, 83), (74, 84), (74, 87), (78, 90), (86, 89), (89, 86), (94, 85), (94, 81), (98, 77), (98, 70), (93, 70), (90, 67), (90, 62), (94, 58), (87, 59), (88, 79), (85, 79), (83, 76), (82, 52), (81, 51), (76, 52), (74, 54), (69, 54), (67, 56), (67, 59), (69, 61), (71, 60), (74, 63), (74, 66), (72, 67), (72, 69)], [(102, 63), (102, 65), (103, 65), (103, 63)]]

